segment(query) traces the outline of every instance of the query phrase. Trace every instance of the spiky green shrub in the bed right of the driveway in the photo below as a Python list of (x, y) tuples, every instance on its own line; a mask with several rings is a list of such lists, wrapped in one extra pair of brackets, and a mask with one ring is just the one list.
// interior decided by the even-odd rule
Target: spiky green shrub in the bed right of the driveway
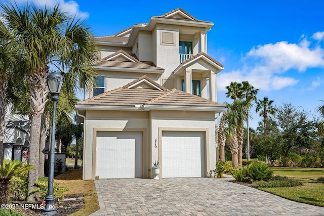
[(246, 166), (247, 174), (251, 182), (268, 180), (272, 177), (273, 171), (263, 162), (253, 162)]

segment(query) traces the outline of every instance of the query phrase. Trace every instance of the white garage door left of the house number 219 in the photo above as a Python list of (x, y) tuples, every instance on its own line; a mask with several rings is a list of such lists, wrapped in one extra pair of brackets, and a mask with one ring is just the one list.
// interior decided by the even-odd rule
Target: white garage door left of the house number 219
[(96, 176), (142, 178), (142, 133), (98, 132)]

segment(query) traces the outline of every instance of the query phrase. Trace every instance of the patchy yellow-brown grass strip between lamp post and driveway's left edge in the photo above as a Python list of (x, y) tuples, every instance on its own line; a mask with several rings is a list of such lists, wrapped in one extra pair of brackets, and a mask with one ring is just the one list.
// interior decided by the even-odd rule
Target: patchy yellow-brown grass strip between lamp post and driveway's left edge
[(64, 192), (64, 195), (84, 197), (85, 206), (71, 215), (90, 215), (99, 209), (94, 181), (82, 180), (82, 168), (70, 169), (64, 174), (57, 176), (54, 181), (61, 186), (66, 186), (69, 188), (69, 191)]

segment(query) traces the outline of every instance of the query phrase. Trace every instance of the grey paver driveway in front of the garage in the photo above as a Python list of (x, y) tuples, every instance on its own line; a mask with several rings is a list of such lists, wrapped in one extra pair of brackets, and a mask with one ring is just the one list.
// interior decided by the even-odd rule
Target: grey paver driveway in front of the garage
[(228, 180), (96, 180), (100, 210), (92, 215), (324, 215), (323, 207), (290, 201)]

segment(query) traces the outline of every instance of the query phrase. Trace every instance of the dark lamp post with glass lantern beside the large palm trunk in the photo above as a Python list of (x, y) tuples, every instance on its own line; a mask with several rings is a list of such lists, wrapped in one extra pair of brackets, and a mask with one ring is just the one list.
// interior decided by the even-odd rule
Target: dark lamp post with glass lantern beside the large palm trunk
[(64, 78), (60, 73), (54, 71), (47, 77), (47, 85), (51, 93), (51, 99), (53, 101), (53, 119), (52, 119), (52, 134), (51, 134), (51, 148), (49, 152), (49, 185), (48, 193), (45, 197), (46, 206), (43, 210), (43, 214), (55, 215), (56, 210), (54, 206), (55, 196), (53, 195), (53, 183), (54, 183), (54, 157), (55, 157), (55, 119), (56, 119), (56, 102), (59, 100), (59, 95), (63, 86)]

